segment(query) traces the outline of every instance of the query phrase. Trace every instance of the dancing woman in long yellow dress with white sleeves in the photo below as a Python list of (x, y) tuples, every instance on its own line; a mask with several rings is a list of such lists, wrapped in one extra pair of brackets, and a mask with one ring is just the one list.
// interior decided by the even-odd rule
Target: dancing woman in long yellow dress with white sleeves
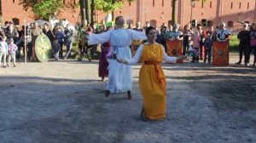
[(162, 60), (176, 63), (181, 57), (169, 57), (160, 43), (155, 43), (156, 30), (149, 26), (146, 29), (148, 42), (137, 49), (132, 59), (119, 59), (120, 63), (132, 65), (139, 60), (143, 66), (139, 73), (139, 87), (143, 94), (143, 121), (160, 120), (166, 117), (166, 77), (161, 68)]

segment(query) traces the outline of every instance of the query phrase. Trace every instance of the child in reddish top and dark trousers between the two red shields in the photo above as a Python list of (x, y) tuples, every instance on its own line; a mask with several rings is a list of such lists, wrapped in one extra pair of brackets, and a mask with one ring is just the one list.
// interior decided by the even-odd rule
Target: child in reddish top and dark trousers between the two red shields
[(201, 42), (201, 37), (200, 33), (198, 31), (195, 31), (191, 35), (191, 41), (193, 41), (192, 45), (192, 61), (193, 63), (199, 63), (199, 48), (200, 48), (200, 42)]

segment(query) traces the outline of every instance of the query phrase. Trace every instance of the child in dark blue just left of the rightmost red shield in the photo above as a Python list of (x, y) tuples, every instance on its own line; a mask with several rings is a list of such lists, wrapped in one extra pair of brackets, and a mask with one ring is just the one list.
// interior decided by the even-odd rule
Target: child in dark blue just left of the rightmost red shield
[(211, 60), (212, 60), (212, 38), (211, 38), (210, 33), (207, 34), (207, 38), (205, 39), (204, 46), (205, 46), (204, 63), (207, 62), (207, 55), (208, 55), (208, 64), (211, 64)]

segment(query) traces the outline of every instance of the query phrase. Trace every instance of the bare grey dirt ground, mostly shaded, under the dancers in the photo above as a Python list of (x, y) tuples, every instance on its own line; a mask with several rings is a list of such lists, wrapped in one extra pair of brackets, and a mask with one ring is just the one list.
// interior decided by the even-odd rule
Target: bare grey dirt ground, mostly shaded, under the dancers
[(133, 99), (104, 97), (98, 61), (19, 63), (0, 68), (0, 142), (256, 142), (256, 68), (163, 64), (167, 117), (145, 123), (133, 69)]

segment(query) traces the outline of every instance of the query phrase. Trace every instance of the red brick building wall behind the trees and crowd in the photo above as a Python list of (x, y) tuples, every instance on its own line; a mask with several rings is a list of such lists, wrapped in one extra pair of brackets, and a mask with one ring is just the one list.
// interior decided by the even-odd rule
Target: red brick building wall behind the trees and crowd
[[(3, 20), (13, 19), (18, 25), (21, 25), (25, 17), (28, 22), (33, 20), (31, 10), (25, 11), (19, 1), (2, 0)], [(78, 2), (79, 0), (73, 0), (73, 3)], [(132, 23), (150, 21), (152, 26), (160, 26), (163, 22), (169, 24), (172, 22), (172, 0), (125, 2), (123, 9), (116, 10), (114, 15), (123, 15), (126, 22)], [(96, 11), (95, 17), (100, 21), (106, 14)], [(79, 8), (62, 10), (60, 18), (71, 23), (79, 21)], [(191, 7), (190, 0), (177, 0), (177, 22), (184, 26), (190, 20), (206, 26), (216, 26), (224, 21), (231, 30), (236, 31), (241, 26), (237, 20), (248, 23), (256, 21), (256, 0), (208, 0), (207, 3), (195, 2), (194, 8)]]

